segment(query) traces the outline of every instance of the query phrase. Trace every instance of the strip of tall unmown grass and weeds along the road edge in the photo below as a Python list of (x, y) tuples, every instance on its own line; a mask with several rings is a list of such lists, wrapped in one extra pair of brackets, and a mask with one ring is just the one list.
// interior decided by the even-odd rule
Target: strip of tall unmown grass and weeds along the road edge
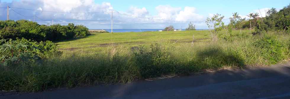
[(122, 45), (110, 46), (100, 52), (73, 53), (26, 66), (2, 66), (0, 89), (35, 92), (51, 87), (126, 83), (204, 69), (265, 66), (289, 59), (289, 48), (289, 38), (277, 37), (220, 38), (218, 42), (182, 45), (153, 43), (133, 51)]

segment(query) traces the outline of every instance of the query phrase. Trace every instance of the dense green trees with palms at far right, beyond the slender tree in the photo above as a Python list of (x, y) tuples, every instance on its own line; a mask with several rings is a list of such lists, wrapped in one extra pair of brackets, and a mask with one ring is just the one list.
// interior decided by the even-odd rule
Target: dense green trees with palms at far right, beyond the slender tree
[(259, 17), (259, 13), (250, 13), (249, 20), (241, 19), (239, 14), (233, 13), (231, 18), (231, 26), (233, 29), (258, 29), (261, 31), (283, 31), (290, 33), (290, 5), (284, 7), (280, 11), (271, 8), (266, 12), (266, 17)]

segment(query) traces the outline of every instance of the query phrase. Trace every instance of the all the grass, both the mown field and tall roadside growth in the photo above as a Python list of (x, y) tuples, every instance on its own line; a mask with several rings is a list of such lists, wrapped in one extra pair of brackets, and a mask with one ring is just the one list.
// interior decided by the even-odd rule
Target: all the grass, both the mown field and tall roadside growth
[[(99, 33), (58, 42), (62, 56), (1, 67), (1, 89), (34, 92), (50, 87), (126, 83), (206, 69), (266, 66), (289, 59), (289, 35), (260, 37), (247, 36), (247, 30), (242, 34), (233, 31), (232, 40), (220, 36), (213, 42), (206, 32)], [(131, 51), (132, 46), (139, 48)]]

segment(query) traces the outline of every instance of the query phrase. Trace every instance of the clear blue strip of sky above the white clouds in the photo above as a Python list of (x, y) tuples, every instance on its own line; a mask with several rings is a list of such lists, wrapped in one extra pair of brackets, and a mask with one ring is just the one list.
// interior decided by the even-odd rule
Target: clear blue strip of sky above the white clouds
[[(102, 3), (104, 1), (95, 1)], [(239, 14), (248, 14), (254, 9), (277, 8), (281, 9), (290, 3), (289, 0), (146, 0), (140, 2), (136, 0), (107, 0), (114, 9), (126, 11), (130, 7), (145, 7), (152, 14), (157, 14), (155, 7), (158, 5), (171, 5), (172, 7), (195, 7), (200, 14), (220, 13), (225, 16), (231, 16), (233, 12)]]

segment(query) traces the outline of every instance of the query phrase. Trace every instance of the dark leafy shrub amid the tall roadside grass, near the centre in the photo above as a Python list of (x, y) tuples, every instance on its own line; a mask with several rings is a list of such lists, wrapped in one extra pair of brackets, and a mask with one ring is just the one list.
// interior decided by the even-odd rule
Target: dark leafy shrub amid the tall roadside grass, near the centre
[(141, 46), (135, 53), (136, 64), (143, 78), (157, 77), (174, 72), (170, 56), (159, 44), (151, 45), (151, 50)]

